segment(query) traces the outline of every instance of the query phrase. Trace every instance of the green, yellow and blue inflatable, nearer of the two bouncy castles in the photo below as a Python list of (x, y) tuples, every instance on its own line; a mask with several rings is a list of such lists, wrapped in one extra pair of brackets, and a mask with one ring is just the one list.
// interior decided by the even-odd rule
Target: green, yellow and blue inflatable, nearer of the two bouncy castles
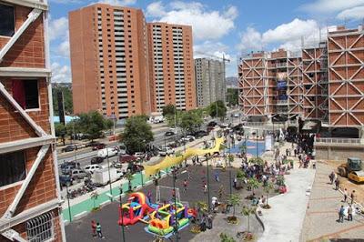
[(189, 218), (195, 216), (196, 213), (182, 203), (167, 204), (151, 213), (147, 230), (158, 236), (167, 237), (176, 225), (178, 230), (187, 227)]

